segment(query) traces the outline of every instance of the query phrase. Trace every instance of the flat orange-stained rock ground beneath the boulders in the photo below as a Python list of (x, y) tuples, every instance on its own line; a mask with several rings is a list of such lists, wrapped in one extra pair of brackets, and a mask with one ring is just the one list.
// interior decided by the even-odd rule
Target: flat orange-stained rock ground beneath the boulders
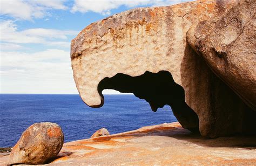
[[(0, 165), (9, 156), (0, 155)], [(64, 143), (49, 165), (254, 165), (256, 137), (203, 139), (178, 122)]]

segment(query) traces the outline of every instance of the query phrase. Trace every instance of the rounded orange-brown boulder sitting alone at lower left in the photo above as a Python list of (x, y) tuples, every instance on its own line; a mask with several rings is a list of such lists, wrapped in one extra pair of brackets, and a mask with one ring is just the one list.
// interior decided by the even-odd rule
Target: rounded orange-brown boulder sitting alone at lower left
[(9, 164), (43, 164), (56, 157), (64, 135), (56, 123), (35, 123), (26, 129), (11, 151)]

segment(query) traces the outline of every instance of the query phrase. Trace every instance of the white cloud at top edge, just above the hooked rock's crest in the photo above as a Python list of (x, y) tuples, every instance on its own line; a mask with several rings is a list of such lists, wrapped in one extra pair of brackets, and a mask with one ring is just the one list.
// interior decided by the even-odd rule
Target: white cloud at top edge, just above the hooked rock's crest
[(165, 6), (176, 3), (186, 2), (191, 0), (75, 0), (71, 12), (96, 12), (102, 15), (110, 15), (112, 9), (117, 9), (124, 5), (128, 8), (136, 6), (149, 5), (149, 6)]

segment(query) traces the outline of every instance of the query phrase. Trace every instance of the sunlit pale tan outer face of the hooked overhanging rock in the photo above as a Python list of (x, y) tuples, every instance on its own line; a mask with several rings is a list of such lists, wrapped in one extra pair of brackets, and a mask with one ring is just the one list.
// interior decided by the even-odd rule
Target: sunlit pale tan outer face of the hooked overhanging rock
[[(200, 3), (205, 3), (205, 5)], [(192, 20), (196, 19), (192, 17), (197, 17), (187, 15), (186, 12), (196, 15), (194, 10), (197, 8), (204, 9), (209, 6), (213, 8), (212, 6), (215, 5), (214, 2), (207, 1), (200, 3), (132, 9), (92, 23), (81, 31), (72, 40), (71, 59), (74, 78), (78, 80), (76, 81), (77, 88), (85, 103), (89, 106), (101, 106), (102, 100), (100, 94), (86, 93), (92, 87), (85, 90), (85, 85), (79, 82), (89, 77), (82, 77), (85, 71), (84, 73), (76, 71), (87, 69), (97, 71), (93, 75), (93, 79), (97, 80), (95, 84), (97, 84), (105, 77), (113, 77), (117, 73), (134, 77), (142, 75), (145, 71), (157, 73), (166, 70), (173, 74), (178, 84), (181, 84), (180, 64), (177, 64), (177, 61), (181, 61), (184, 55), (185, 33), (192, 24)], [(192, 9), (191, 4), (194, 5)], [(184, 10), (179, 8), (184, 8)], [(204, 15), (206, 13), (204, 12)], [(172, 64), (171, 61), (174, 63)], [(100, 77), (101, 75), (104, 77)], [(94, 85), (93, 89), (92, 94), (95, 94), (97, 85)], [(88, 98), (83, 96), (88, 96)]]

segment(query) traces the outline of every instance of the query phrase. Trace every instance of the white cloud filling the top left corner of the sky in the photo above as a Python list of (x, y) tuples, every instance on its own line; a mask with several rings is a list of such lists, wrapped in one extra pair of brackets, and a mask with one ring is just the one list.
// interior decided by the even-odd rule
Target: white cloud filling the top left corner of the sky
[(1, 0), (1, 15), (17, 19), (43, 18), (52, 9), (65, 10), (63, 0)]

